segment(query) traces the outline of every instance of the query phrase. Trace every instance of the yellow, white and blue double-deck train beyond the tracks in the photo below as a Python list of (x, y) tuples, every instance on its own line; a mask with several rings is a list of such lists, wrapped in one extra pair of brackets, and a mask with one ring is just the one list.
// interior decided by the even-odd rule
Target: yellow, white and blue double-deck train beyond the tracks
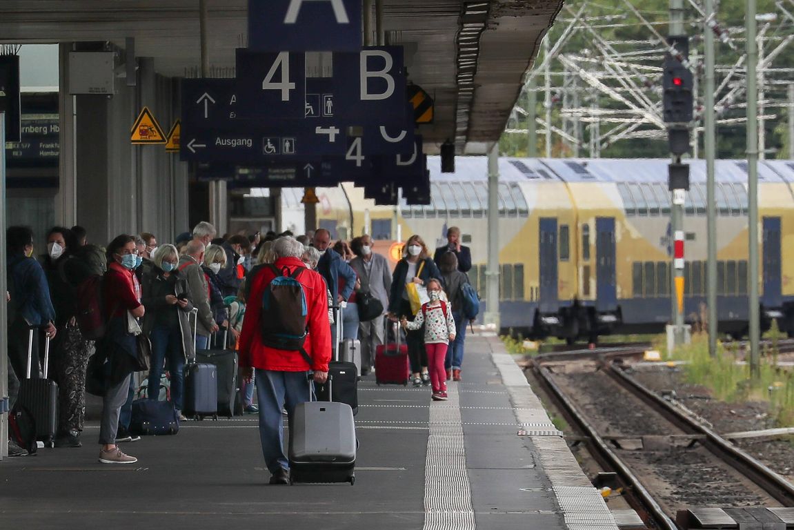
[[(501, 158), (502, 327), (569, 342), (618, 331), (661, 331), (672, 318), (674, 292), (668, 164), (661, 159)], [(694, 321), (706, 301), (706, 168), (702, 160), (688, 164), (684, 314)], [(318, 226), (336, 238), (366, 231), (384, 253), (395, 226), (399, 238), (421, 234), (428, 246), (441, 246), (446, 228), (459, 226), (472, 250), (469, 277), (484, 293), (487, 157), (457, 157), (454, 173), (441, 173), (438, 157), (428, 157), (428, 166), (430, 205), (380, 207), (352, 184), (320, 188)], [(794, 162), (761, 161), (758, 176), (761, 277), (749, 278), (746, 162), (716, 162), (719, 329), (746, 332), (748, 285), (757, 281), (764, 323), (777, 318), (792, 334), (794, 275), (788, 266), (794, 260)], [(299, 198), (297, 190), (283, 191), (282, 226), (303, 228)]]

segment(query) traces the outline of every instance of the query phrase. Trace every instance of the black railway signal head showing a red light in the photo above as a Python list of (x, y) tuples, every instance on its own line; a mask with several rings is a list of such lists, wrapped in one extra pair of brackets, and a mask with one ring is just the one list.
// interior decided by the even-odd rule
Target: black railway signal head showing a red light
[(682, 64), (688, 54), (688, 37), (669, 37), (669, 43), (677, 54), (665, 54), (661, 82), (663, 118), (666, 123), (691, 122), (694, 107), (692, 72)]

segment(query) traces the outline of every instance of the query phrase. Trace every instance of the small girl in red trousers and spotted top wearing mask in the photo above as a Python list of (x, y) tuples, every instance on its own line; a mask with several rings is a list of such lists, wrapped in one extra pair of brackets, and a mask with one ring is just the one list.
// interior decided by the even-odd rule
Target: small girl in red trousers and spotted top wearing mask
[(432, 278), (427, 282), (427, 295), (430, 301), (422, 304), (413, 321), (405, 317), (400, 320), (403, 328), (416, 331), (425, 326), (425, 349), (427, 350), (427, 365), (430, 371), (430, 384), (433, 386), (433, 400), (445, 401), (446, 370), (444, 360), (449, 342), (455, 340), (455, 319), (452, 309), (444, 300), (441, 300), (441, 281)]

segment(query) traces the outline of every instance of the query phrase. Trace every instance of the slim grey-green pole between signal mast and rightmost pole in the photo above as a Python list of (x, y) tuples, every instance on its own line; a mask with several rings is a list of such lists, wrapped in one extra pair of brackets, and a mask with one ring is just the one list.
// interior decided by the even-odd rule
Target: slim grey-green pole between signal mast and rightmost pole
[(714, 0), (705, 0), (703, 6), (703, 149), (706, 157), (707, 195), (707, 259), (706, 303), (708, 305), (708, 353), (717, 354), (717, 204), (715, 199), (714, 158), (716, 154), (716, 129), (714, 114), (714, 33), (705, 23), (714, 16)]

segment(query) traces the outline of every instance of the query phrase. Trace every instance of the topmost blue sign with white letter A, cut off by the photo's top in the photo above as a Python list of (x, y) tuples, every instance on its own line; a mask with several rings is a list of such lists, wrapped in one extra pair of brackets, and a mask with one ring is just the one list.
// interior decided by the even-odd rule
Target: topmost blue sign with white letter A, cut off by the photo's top
[(249, 48), (353, 52), (361, 48), (361, 0), (249, 0)]

